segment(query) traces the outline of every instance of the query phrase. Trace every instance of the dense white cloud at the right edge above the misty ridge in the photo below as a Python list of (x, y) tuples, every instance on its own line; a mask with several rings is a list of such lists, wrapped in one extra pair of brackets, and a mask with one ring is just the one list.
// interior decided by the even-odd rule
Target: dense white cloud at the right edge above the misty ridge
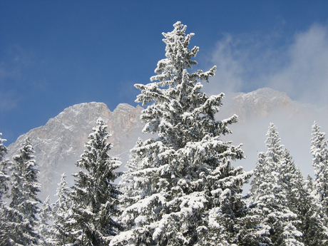
[(269, 86), (299, 101), (328, 104), (328, 29), (314, 24), (295, 36), (287, 66), (270, 76)]

